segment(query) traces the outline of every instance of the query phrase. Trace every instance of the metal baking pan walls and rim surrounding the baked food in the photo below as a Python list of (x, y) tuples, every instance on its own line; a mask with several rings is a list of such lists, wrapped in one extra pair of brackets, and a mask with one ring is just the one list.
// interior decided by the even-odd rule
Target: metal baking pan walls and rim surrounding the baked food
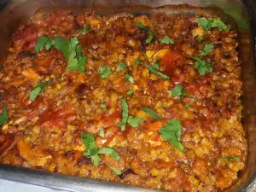
[[(193, 6), (214, 7), (222, 9), (225, 14), (236, 20), (240, 32), (240, 49), (242, 62), (242, 76), (244, 82), (243, 119), (248, 152), (247, 167), (239, 173), (239, 180), (226, 191), (256, 191), (256, 1), (255, 0), (0, 0), (0, 58), (4, 58), (9, 47), (9, 38), (22, 20), (26, 20), (42, 7), (73, 7), (111, 8), (108, 13), (125, 10), (135, 12), (133, 9), (113, 9), (130, 5), (147, 5), (158, 7), (170, 4), (188, 3)], [(170, 11), (170, 9), (137, 9), (137, 14), (147, 14), (154, 11)], [(173, 9), (172, 9), (173, 11)], [(101, 12), (103, 13), (103, 12)], [(106, 12), (107, 13), (107, 12)], [(104, 14), (104, 13), (103, 13)], [(227, 18), (223, 18), (226, 20)], [(0, 59), (1, 61), (1, 59)], [(21, 183), (32, 183), (55, 189), (69, 191), (154, 191), (133, 188), (128, 185), (96, 181), (81, 177), (48, 173), (38, 170), (29, 170), (15, 166), (0, 165), (0, 178)]]

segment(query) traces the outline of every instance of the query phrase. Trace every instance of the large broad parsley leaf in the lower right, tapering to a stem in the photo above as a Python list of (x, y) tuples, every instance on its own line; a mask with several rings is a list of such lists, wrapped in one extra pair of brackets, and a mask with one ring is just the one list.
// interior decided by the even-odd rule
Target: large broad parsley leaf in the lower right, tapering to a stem
[(172, 143), (179, 150), (183, 150), (183, 144), (180, 143), (182, 125), (177, 119), (169, 119), (161, 129), (160, 136), (167, 142)]

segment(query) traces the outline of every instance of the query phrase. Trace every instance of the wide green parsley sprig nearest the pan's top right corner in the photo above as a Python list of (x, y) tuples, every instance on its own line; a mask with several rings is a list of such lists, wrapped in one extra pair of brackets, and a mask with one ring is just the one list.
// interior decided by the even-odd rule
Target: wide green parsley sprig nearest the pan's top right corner
[(198, 25), (204, 27), (206, 31), (214, 27), (217, 27), (220, 31), (229, 30), (229, 27), (226, 26), (223, 21), (216, 18), (207, 19), (205, 17), (200, 17), (200, 18), (197, 18), (197, 22), (198, 22)]

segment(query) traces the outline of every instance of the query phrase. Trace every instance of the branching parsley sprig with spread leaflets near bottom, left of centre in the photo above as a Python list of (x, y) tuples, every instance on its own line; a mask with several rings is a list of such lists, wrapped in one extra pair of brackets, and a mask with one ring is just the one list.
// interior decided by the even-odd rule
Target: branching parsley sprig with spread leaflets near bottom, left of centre
[(86, 149), (83, 156), (90, 156), (92, 165), (98, 166), (100, 164), (101, 158), (99, 154), (108, 154), (113, 160), (119, 160), (119, 154), (114, 148), (97, 148), (96, 141), (92, 133), (81, 133), (81, 137)]

